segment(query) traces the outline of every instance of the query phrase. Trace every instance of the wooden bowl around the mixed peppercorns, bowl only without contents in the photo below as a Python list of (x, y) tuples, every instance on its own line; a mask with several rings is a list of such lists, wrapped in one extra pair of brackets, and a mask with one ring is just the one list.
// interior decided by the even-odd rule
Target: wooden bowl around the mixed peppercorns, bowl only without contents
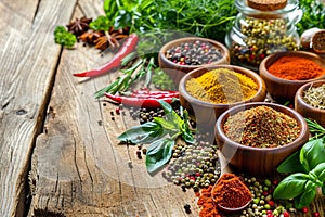
[[(210, 64), (203, 64), (203, 65), (179, 65), (166, 58), (166, 53), (169, 49), (184, 42), (193, 42), (196, 40), (205, 41), (206, 43), (213, 46), (216, 49), (220, 50), (222, 58), (219, 61), (212, 62)], [(230, 64), (230, 51), (225, 46), (223, 46), (222, 43), (216, 40), (199, 38), (199, 37), (185, 37), (185, 38), (172, 40), (166, 43), (165, 46), (162, 46), (158, 54), (158, 62), (159, 62), (159, 67), (164, 72), (166, 72), (172, 78), (174, 84), (178, 86), (182, 77), (184, 77), (184, 75), (186, 75), (193, 69), (199, 67), (207, 67), (211, 65)]]

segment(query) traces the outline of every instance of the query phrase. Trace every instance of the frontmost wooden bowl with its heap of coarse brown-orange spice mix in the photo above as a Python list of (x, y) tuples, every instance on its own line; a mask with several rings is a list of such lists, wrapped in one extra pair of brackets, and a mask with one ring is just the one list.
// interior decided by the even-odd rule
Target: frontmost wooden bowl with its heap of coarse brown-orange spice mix
[(269, 176), (309, 140), (304, 118), (287, 106), (255, 102), (224, 112), (216, 124), (216, 141), (230, 166)]

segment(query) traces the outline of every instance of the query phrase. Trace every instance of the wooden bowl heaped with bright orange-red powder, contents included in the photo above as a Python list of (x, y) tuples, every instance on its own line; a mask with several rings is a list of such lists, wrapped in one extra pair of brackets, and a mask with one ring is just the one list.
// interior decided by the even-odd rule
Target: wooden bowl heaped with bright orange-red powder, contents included
[(261, 62), (259, 73), (274, 100), (294, 102), (301, 86), (325, 78), (325, 60), (306, 51), (277, 52)]

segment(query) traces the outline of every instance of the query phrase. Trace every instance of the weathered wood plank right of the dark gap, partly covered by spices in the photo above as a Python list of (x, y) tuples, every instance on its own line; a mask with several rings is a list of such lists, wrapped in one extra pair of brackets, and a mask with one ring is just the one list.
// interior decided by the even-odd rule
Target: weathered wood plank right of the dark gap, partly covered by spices
[[(90, 10), (102, 7), (93, 2), (79, 1), (74, 16), (101, 14)], [(138, 148), (118, 144), (117, 136), (139, 123), (128, 112), (113, 120), (116, 106), (94, 100), (93, 93), (118, 74), (84, 82), (72, 76), (108, 59), (81, 44), (77, 51), (63, 51), (49, 119), (35, 149), (30, 215), (185, 216), (185, 203), (195, 207), (193, 192), (182, 192), (159, 174), (151, 177), (144, 159), (135, 156)]]

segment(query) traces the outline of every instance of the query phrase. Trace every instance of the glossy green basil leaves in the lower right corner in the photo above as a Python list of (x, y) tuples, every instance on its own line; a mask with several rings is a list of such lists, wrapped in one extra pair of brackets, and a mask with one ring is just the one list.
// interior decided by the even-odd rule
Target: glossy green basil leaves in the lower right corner
[(274, 199), (295, 199), (295, 207), (302, 208), (312, 203), (317, 188), (322, 188), (325, 195), (325, 137), (307, 142), (286, 158), (277, 171), (294, 174), (278, 183)]

